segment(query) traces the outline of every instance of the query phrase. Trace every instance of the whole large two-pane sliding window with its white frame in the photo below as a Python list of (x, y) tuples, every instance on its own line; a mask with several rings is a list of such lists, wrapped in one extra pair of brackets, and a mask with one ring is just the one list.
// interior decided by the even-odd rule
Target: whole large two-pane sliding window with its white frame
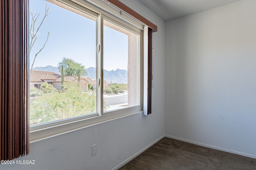
[(31, 140), (142, 111), (143, 25), (49, 1), (30, 0)]

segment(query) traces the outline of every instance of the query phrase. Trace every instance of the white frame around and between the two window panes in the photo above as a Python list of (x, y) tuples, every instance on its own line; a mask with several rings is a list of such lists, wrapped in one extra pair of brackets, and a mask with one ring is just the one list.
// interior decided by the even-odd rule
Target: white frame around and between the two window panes
[[(114, 6), (102, 1), (102, 0), (58, 0), (68, 6), (71, 6), (77, 10), (90, 14), (92, 16), (97, 15), (97, 44), (100, 44), (100, 53), (97, 54), (97, 78), (100, 79), (100, 86), (97, 89), (97, 113), (92, 113), (89, 115), (82, 115), (78, 117), (72, 117), (68, 119), (62, 119), (58, 121), (52, 121), (48, 123), (42, 123), (38, 125), (30, 126), (30, 143), (40, 141), (42, 139), (47, 139), (54, 137), (56, 135), (61, 135), (92, 125), (97, 125), (99, 123), (104, 123), (113, 119), (118, 119), (120, 117), (125, 117), (132, 114), (143, 113), (143, 53), (146, 46), (144, 46), (144, 27), (142, 23), (134, 20), (125, 13), (120, 12)], [(122, 15), (121, 15), (122, 14)], [(140, 35), (140, 59), (139, 59), (139, 69), (140, 74), (139, 79), (139, 106), (127, 107), (123, 109), (118, 109), (114, 111), (108, 111), (103, 113), (103, 18), (108, 18), (114, 21), (115, 24), (128, 29), (136, 34)], [(146, 43), (145, 43), (146, 44)], [(144, 101), (145, 102), (145, 101)]]

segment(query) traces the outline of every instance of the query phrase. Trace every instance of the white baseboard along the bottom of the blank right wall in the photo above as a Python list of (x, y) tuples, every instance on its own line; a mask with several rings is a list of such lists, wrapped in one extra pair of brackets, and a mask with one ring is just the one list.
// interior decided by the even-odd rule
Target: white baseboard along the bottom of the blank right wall
[(171, 136), (171, 135), (165, 135), (165, 137), (176, 139), (176, 140), (187, 142), (187, 143), (192, 143), (192, 144), (199, 145), (199, 146), (202, 146), (202, 147), (221, 150), (221, 151), (229, 152), (229, 153), (233, 153), (233, 154), (239, 154), (239, 155), (247, 156), (247, 157), (250, 157), (250, 158), (256, 158), (256, 155), (247, 154), (247, 153), (243, 153), (243, 152), (238, 152), (236, 150), (224, 149), (224, 148), (208, 145), (208, 144), (205, 144), (205, 143), (200, 143), (200, 142), (190, 141), (190, 140), (187, 140), (187, 139), (182, 139), (182, 138), (179, 138), (179, 137), (174, 137), (174, 136)]

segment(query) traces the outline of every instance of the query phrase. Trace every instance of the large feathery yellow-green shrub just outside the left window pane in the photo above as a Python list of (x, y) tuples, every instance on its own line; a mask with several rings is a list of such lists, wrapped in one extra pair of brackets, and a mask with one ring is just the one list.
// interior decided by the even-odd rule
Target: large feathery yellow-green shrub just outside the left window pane
[[(30, 104), (30, 123), (45, 123), (96, 112), (96, 94), (83, 92), (75, 84), (64, 82), (64, 90), (44, 86), (45, 92)], [(106, 109), (106, 102), (103, 108)]]

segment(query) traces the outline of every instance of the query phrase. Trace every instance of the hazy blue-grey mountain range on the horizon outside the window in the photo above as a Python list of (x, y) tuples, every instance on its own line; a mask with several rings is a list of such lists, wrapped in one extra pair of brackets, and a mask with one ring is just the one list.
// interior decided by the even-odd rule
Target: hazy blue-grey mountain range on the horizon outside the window
[[(38, 71), (50, 71), (56, 72), (60, 75), (60, 72), (57, 67), (54, 66), (45, 66), (45, 67), (35, 67), (33, 70)], [(88, 74), (86, 75), (89, 78), (96, 79), (96, 68), (89, 67), (86, 69)], [(128, 82), (128, 72), (126, 70), (120, 70), (119, 68), (111, 71), (103, 70), (103, 79), (106, 80), (108, 83), (118, 83), (118, 84), (127, 84)]]

